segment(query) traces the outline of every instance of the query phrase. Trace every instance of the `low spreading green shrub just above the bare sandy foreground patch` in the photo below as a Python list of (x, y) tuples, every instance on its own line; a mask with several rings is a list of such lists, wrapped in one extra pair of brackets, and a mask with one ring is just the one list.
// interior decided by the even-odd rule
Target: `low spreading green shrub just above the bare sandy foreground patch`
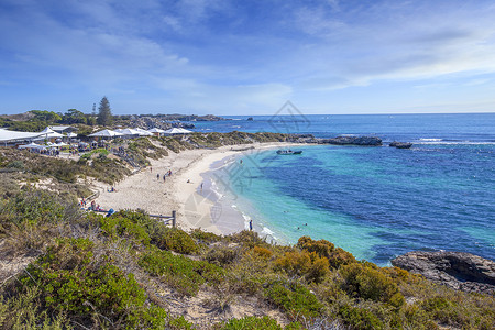
[(196, 295), (207, 283), (223, 279), (224, 271), (205, 261), (195, 261), (169, 251), (151, 249), (139, 261), (141, 267), (154, 276), (163, 276), (180, 294)]

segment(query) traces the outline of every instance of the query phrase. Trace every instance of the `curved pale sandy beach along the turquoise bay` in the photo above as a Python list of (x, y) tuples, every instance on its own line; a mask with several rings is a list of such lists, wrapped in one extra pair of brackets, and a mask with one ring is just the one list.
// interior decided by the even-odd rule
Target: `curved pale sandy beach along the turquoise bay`
[[(219, 212), (219, 204), (211, 198), (211, 187), (205, 185), (201, 174), (220, 161), (228, 162), (232, 157), (250, 155), (260, 150), (290, 145), (294, 144), (256, 143), (216, 150), (188, 150), (178, 154), (169, 152), (166, 157), (152, 160), (151, 167), (114, 185), (117, 191), (109, 193), (108, 185), (95, 183), (100, 190), (96, 204), (103, 209), (143, 209), (151, 215), (163, 216), (169, 216), (175, 210), (177, 224), (184, 230), (201, 228), (217, 234), (239, 232), (245, 228), (241, 213), (227, 209)], [(172, 170), (172, 176), (164, 180), (163, 175), (168, 170)]]

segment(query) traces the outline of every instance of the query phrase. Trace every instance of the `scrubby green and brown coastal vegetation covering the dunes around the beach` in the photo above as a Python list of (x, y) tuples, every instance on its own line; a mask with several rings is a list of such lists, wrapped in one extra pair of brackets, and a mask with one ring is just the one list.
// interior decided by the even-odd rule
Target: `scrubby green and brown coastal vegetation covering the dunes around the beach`
[[(122, 145), (144, 164), (287, 139), (195, 133)], [(493, 329), (493, 296), (359, 261), (326, 240), (276, 245), (251, 231), (185, 232), (140, 210), (79, 209), (87, 180), (129, 173), (106, 148), (77, 162), (0, 148), (0, 329)]]

